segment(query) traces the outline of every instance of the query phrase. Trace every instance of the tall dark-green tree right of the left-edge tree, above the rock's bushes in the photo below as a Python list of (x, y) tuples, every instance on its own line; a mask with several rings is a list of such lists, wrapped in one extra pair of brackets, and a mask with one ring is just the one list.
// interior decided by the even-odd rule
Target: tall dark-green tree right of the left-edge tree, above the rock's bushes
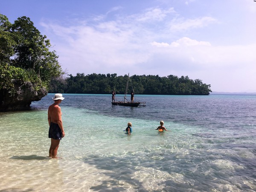
[(50, 52), (50, 41), (41, 35), (29, 17), (19, 17), (11, 27), (14, 33), (15, 55), (12, 65), (23, 69), (33, 69), (42, 80), (59, 77), (63, 72), (55, 51)]

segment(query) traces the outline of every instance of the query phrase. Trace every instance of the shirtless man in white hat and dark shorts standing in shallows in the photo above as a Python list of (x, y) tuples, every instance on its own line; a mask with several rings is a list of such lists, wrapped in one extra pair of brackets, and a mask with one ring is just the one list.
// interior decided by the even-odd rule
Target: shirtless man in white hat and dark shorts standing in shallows
[(54, 100), (54, 103), (48, 108), (49, 138), (51, 138), (49, 157), (57, 158), (58, 146), (61, 138), (65, 136), (61, 119), (62, 113), (59, 106), (61, 101), (65, 98), (62, 97), (61, 93), (56, 93), (55, 97), (52, 99)]

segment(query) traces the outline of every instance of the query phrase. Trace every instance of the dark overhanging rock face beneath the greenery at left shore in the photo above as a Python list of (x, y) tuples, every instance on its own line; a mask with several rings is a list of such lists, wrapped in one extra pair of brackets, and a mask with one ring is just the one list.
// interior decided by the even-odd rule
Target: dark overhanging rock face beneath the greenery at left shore
[(15, 93), (2, 93), (0, 90), (0, 111), (29, 110), (31, 102), (40, 101), (48, 91), (45, 88), (35, 90), (29, 81), (15, 86)]

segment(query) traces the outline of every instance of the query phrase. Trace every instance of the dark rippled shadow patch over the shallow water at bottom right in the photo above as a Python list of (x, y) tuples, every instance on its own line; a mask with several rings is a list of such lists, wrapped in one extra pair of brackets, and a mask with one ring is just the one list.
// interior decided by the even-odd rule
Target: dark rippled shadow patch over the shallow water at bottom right
[(214, 163), (220, 160), (216, 155), (200, 156), (200, 152), (200, 149), (190, 149), (189, 154), (183, 155), (167, 151), (131, 153), (126, 157), (92, 155), (84, 158), (84, 163), (104, 170), (101, 171), (105, 175), (101, 184), (90, 187), (93, 191), (117, 192), (131, 188), (140, 192), (222, 190), (224, 186), (219, 184), (221, 182), (228, 183), (238, 191), (254, 188), (239, 180), (246, 170), (239, 167), (223, 169)]

